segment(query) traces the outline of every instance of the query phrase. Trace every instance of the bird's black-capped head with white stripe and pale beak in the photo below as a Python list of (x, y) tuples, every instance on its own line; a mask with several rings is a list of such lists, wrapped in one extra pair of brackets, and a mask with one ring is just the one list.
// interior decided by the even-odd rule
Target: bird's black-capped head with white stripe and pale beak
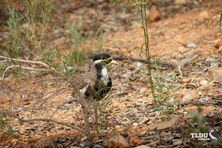
[(95, 65), (99, 64), (102, 66), (107, 66), (110, 64), (118, 64), (109, 54), (100, 53), (95, 55), (93, 58), (93, 62)]

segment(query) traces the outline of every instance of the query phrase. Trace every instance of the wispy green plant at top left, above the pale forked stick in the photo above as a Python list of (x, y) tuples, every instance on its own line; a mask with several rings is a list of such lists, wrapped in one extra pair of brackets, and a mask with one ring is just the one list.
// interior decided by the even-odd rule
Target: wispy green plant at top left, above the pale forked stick
[[(22, 14), (13, 3), (8, 1), (10, 6), (9, 19), (6, 22), (7, 28), (11, 34), (11, 40), (5, 43), (11, 57), (30, 54), (39, 55), (49, 47), (48, 35), (51, 13), (53, 10), (52, 0), (23, 0), (25, 14)], [(30, 56), (29, 55), (29, 56)]]

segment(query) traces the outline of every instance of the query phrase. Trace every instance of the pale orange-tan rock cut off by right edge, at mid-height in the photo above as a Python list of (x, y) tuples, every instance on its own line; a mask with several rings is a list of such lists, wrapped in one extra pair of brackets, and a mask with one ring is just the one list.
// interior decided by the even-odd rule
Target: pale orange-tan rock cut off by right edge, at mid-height
[(222, 82), (222, 67), (215, 67), (208, 71), (210, 81)]

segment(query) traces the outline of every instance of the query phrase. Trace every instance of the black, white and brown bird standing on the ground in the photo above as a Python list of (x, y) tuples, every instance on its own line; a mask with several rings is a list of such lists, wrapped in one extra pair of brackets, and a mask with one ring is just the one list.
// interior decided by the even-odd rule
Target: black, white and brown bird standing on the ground
[(99, 53), (93, 57), (90, 70), (79, 71), (74, 75), (72, 86), (73, 95), (80, 94), (85, 98), (97, 101), (103, 99), (111, 90), (112, 79), (109, 76), (108, 66), (118, 64), (110, 54)]

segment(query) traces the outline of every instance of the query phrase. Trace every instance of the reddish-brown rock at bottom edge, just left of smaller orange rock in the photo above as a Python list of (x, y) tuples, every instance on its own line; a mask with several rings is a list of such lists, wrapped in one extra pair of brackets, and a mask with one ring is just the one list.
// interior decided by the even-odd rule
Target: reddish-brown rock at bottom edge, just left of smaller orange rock
[(129, 147), (128, 142), (121, 135), (116, 135), (108, 141), (108, 147), (112, 148), (127, 148)]

